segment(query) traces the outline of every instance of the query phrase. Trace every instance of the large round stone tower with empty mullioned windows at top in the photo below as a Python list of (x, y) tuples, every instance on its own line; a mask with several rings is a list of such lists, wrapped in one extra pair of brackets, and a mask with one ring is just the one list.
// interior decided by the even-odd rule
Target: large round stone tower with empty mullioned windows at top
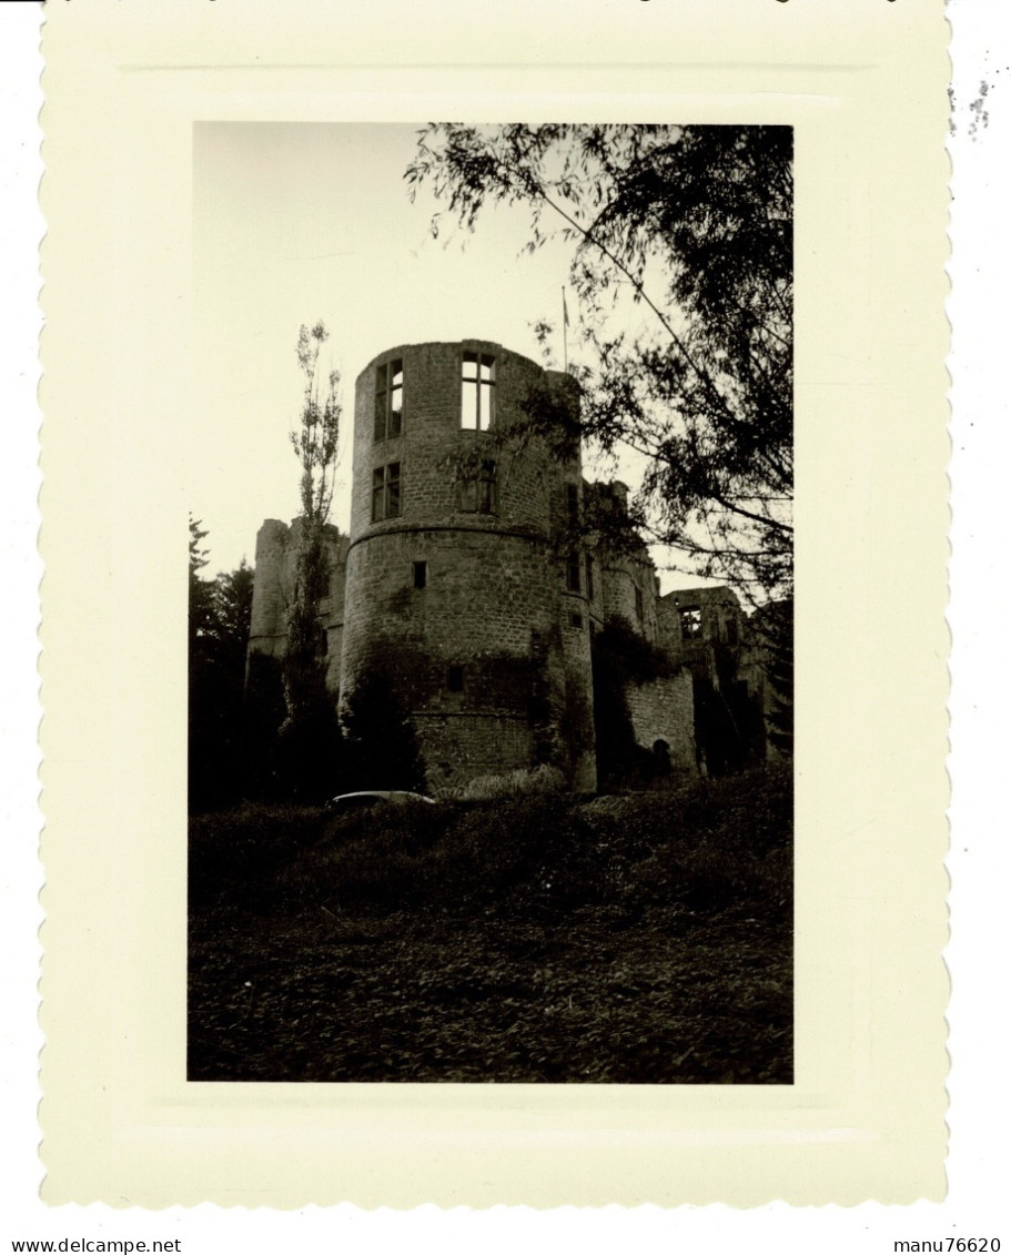
[(358, 376), (342, 695), (387, 674), (436, 792), (541, 764), (595, 787), (580, 457), (524, 425), (576, 405), (568, 375), (485, 340)]

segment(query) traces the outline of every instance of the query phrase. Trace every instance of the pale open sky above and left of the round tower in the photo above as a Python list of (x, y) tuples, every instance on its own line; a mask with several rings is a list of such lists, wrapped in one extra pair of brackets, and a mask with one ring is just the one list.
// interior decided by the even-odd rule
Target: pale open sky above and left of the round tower
[[(288, 435), (301, 398), (300, 324), (323, 320), (327, 365), (343, 375), (333, 513), (343, 530), (354, 379), (370, 358), (397, 344), (477, 336), (540, 360), (533, 324), (546, 318), (558, 328), (553, 364), (561, 364), (570, 248), (522, 255), (522, 208), (486, 208), (472, 235), (447, 223), (432, 238), (438, 206), (427, 196), (412, 205), (403, 177), (421, 125), (195, 127), (192, 395), (201, 435), (190, 501), (208, 532), (206, 575), (244, 556), (252, 562), (262, 520), (298, 512)], [(584, 473), (610, 471), (587, 459)], [(664, 581), (677, 582), (687, 581)]]

